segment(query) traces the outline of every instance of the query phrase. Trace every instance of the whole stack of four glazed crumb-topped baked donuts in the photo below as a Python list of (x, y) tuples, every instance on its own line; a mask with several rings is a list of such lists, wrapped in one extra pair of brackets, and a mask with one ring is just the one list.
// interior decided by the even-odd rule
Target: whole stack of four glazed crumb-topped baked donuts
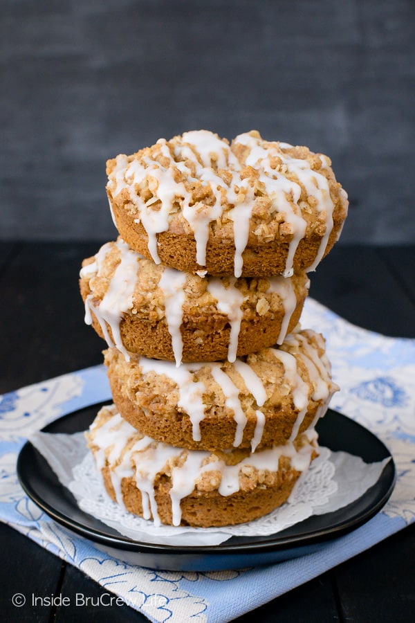
[(185, 132), (107, 174), (118, 238), (80, 291), (108, 345), (113, 404), (86, 436), (109, 496), (156, 524), (264, 516), (318, 455), (338, 389), (299, 320), (347, 195), (326, 156), (258, 132)]

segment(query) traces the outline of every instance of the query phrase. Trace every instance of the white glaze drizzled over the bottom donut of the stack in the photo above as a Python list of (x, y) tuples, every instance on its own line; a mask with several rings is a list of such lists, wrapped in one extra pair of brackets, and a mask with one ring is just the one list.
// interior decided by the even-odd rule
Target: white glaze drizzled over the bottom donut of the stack
[[(181, 500), (190, 495), (196, 487), (197, 481), (203, 473), (219, 471), (221, 482), (219, 494), (230, 496), (239, 491), (239, 473), (245, 466), (255, 469), (275, 472), (279, 469), (279, 459), (284, 456), (291, 460), (291, 467), (297, 471), (305, 471), (311, 462), (314, 451), (313, 443), (317, 440), (315, 431), (307, 431), (309, 444), (303, 445), (299, 450), (295, 449), (292, 442), (282, 446), (274, 446), (265, 450), (259, 450), (250, 454), (236, 465), (227, 465), (222, 459), (207, 462), (212, 453), (209, 451), (183, 451), (161, 442), (154, 442), (149, 437), (143, 437), (132, 444), (131, 449), (124, 451), (131, 435), (137, 431), (132, 426), (120, 425), (120, 415), (116, 413), (101, 427), (95, 423), (90, 430), (93, 433), (92, 443), (98, 447), (95, 453), (98, 469), (108, 464), (111, 473), (111, 483), (117, 492), (117, 502), (122, 502), (121, 482), (122, 478), (135, 478), (136, 486), (142, 496), (143, 516), (149, 519), (153, 516), (155, 525), (160, 525), (160, 517), (154, 491), (156, 476), (166, 469), (170, 462), (172, 465), (172, 488), (169, 495), (172, 500), (172, 523), (181, 523)], [(114, 443), (113, 437), (116, 437)], [(184, 456), (183, 456), (184, 453)], [(102, 463), (102, 457), (107, 460)], [(122, 458), (121, 458), (122, 456)], [(172, 461), (180, 457), (181, 465), (173, 467)], [(203, 464), (205, 462), (205, 464)]]

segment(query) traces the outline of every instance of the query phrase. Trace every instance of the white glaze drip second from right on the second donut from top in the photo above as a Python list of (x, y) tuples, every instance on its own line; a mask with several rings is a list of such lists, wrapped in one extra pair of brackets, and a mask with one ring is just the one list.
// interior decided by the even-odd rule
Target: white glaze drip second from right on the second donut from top
[(228, 316), (230, 323), (230, 336), (228, 345), (228, 361), (235, 361), (239, 341), (239, 331), (243, 316), (243, 294), (235, 287), (235, 278), (231, 278), (228, 287), (218, 277), (210, 277), (208, 291), (216, 298), (216, 307), (222, 314)]

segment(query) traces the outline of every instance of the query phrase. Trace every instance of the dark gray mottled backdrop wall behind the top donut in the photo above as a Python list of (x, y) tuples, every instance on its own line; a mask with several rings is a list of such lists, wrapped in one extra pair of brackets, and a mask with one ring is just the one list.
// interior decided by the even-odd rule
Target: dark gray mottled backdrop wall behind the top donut
[(342, 242), (414, 242), (414, 1), (0, 10), (1, 239), (113, 239), (105, 161), (204, 128), (324, 152), (351, 201)]

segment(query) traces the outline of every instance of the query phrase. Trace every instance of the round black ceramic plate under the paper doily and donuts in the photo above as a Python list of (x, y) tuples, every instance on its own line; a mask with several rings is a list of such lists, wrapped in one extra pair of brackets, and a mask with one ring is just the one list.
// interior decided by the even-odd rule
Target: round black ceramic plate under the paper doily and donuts
[[(57, 419), (43, 430), (47, 433), (75, 433), (85, 430), (95, 417), (97, 405)], [(270, 536), (232, 536), (221, 545), (180, 546), (140, 543), (120, 535), (77, 507), (75, 498), (63, 487), (48, 463), (27, 442), (21, 449), (17, 474), (26, 494), (46, 514), (100, 550), (132, 564), (172, 570), (223, 570), (246, 568), (298, 557), (324, 546), (324, 542), (354, 530), (374, 516), (387, 502), (396, 480), (394, 462), (375, 435), (353, 420), (329, 410), (317, 430), (320, 444), (343, 450), (365, 462), (390, 458), (379, 480), (361, 498), (338, 511), (312, 516)]]

